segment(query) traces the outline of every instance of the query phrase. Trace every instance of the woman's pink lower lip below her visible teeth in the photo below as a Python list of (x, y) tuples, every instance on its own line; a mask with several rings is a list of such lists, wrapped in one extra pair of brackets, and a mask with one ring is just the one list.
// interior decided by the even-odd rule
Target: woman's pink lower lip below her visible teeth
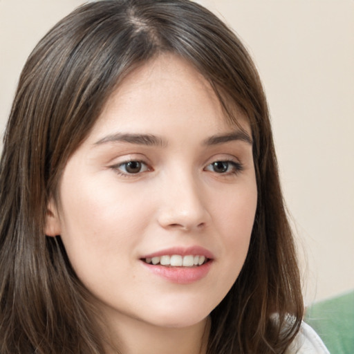
[(206, 277), (212, 261), (209, 260), (198, 267), (165, 267), (164, 265), (152, 265), (142, 261), (150, 272), (178, 284), (190, 284)]

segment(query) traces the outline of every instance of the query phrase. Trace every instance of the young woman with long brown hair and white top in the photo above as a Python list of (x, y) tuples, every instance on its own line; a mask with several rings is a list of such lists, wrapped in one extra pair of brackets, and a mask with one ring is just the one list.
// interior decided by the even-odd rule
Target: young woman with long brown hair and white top
[(187, 0), (78, 8), (28, 58), (1, 159), (0, 353), (326, 353), (267, 104)]

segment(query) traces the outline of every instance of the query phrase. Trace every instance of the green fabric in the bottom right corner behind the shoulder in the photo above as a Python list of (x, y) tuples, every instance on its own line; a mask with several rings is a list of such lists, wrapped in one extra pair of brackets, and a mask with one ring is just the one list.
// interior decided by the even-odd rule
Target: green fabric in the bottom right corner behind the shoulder
[(330, 354), (354, 354), (354, 291), (313, 304), (306, 310), (305, 322)]

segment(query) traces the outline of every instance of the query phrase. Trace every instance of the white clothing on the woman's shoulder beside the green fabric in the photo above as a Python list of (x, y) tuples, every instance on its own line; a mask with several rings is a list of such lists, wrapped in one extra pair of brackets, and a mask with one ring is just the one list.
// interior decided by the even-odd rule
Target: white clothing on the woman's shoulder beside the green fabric
[(303, 322), (286, 354), (329, 354), (329, 351), (315, 330)]

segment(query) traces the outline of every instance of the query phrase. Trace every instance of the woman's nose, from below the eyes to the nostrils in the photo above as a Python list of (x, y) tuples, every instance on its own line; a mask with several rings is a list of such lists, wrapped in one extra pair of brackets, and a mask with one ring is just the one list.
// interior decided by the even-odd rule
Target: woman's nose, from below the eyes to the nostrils
[(201, 181), (192, 175), (179, 176), (161, 187), (158, 223), (162, 227), (196, 231), (207, 226), (210, 215)]

